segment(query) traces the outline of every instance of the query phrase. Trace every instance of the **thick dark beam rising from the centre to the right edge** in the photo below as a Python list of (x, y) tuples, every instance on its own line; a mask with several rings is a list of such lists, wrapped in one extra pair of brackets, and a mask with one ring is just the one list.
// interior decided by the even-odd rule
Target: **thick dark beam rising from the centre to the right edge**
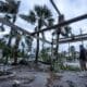
[(32, 35), (35, 35), (35, 34), (38, 34), (38, 33), (42, 33), (42, 32), (47, 32), (47, 30), (51, 30), (51, 29), (57, 29), (57, 27), (69, 25), (69, 24), (72, 24), (72, 23), (75, 23), (75, 22), (78, 22), (78, 21), (82, 21), (82, 20), (85, 20), (85, 18), (87, 18), (87, 14), (84, 14), (84, 15), (80, 15), (80, 16), (64, 21), (63, 23), (55, 24), (53, 26), (44, 28), (44, 29), (41, 29), (39, 32), (32, 33)]

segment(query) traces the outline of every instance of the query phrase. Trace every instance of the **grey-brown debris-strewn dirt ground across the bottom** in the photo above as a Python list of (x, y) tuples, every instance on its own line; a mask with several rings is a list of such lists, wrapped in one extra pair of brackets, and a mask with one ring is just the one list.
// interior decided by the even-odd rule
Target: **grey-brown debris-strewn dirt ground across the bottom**
[(28, 66), (16, 66), (11, 70), (15, 72), (13, 77), (0, 79), (0, 87), (13, 87), (17, 82), (16, 87), (87, 87), (87, 76), (83, 72), (52, 73), (35, 71)]

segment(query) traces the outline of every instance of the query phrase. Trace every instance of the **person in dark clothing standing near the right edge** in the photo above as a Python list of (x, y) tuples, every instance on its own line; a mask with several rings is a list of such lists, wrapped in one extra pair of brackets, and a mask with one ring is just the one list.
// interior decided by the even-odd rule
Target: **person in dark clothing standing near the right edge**
[(79, 64), (83, 71), (86, 71), (86, 49), (83, 45), (79, 46)]

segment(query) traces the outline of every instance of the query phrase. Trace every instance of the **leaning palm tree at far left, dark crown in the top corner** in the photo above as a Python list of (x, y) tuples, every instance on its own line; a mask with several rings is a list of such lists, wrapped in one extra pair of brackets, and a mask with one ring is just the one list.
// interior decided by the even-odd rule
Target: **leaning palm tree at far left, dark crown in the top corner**
[[(4, 2), (1, 1), (0, 3), (1, 3), (0, 12), (1, 13), (7, 13), (4, 17), (8, 21), (10, 21), (10, 18), (13, 18), (12, 23), (14, 24), (15, 21), (16, 21), (16, 14), (17, 14), (18, 8), (20, 8), (20, 1), (16, 1), (16, 0), (5, 0)], [(12, 38), (13, 38), (14, 34), (16, 34), (16, 33), (14, 33), (14, 30), (11, 28), (10, 36), (9, 36), (9, 41), (8, 41), (8, 47), (9, 48), (11, 48), (11, 41), (12, 41)]]

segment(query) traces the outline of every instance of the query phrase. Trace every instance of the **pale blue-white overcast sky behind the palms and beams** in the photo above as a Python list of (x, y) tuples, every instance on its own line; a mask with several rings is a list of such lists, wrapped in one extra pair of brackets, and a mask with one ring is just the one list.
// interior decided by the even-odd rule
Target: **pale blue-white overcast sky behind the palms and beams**
[[(35, 4), (39, 4), (39, 5), (47, 4), (47, 7), (52, 11), (53, 17), (57, 18), (59, 16), (55, 10), (53, 9), (53, 7), (51, 5), (50, 0), (21, 0), (21, 1), (22, 2), (21, 2), (18, 14), (22, 14), (22, 13), (27, 14), (29, 10), (33, 10)], [(72, 17), (87, 13), (87, 0), (53, 0), (53, 1), (55, 2), (61, 13), (64, 14), (65, 20), (70, 20)], [(30, 24), (28, 24), (27, 22), (24, 22), (20, 17), (16, 21), (16, 25), (29, 32), (34, 30), (34, 27)], [(72, 32), (74, 34), (79, 34), (79, 28), (83, 29), (83, 33), (87, 33), (87, 27), (86, 27), (87, 21), (86, 20), (71, 24), (70, 26), (72, 26), (73, 28)], [(48, 40), (51, 40), (50, 33), (48, 33), (48, 36), (46, 37)], [(78, 44), (74, 44), (74, 45), (76, 46)], [(60, 49), (63, 50), (64, 46), (65, 45), (63, 45)]]

